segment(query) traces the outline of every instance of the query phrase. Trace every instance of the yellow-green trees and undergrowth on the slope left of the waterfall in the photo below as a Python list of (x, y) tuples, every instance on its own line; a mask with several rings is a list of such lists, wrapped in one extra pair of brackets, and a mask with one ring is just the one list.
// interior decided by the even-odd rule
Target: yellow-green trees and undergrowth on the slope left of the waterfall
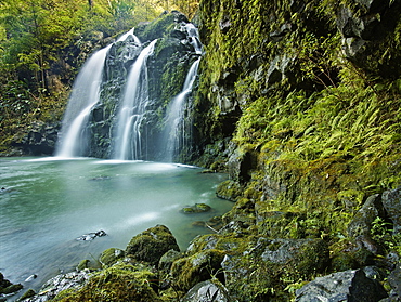
[(1, 1), (0, 152), (33, 121), (61, 120), (83, 63), (77, 53), (92, 51), (102, 37), (153, 18), (158, 10), (148, 0)]

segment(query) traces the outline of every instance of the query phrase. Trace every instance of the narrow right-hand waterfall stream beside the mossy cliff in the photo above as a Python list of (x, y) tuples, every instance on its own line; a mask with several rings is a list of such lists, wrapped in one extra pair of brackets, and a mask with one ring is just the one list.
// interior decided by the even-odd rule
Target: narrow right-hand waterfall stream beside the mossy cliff
[(178, 94), (167, 110), (166, 119), (166, 160), (172, 161), (174, 155), (185, 145), (185, 101), (187, 95), (192, 92), (197, 69), (199, 67), (200, 57), (198, 57), (191, 66), (186, 74), (185, 82), (180, 94)]

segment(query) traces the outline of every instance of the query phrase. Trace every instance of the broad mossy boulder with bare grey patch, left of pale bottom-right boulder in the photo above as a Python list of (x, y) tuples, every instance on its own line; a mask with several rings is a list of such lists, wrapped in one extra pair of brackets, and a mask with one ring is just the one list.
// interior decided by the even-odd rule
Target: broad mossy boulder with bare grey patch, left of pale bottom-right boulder
[[(240, 301), (289, 301), (284, 289), (324, 272), (328, 247), (322, 239), (260, 237), (224, 257), (225, 286)], [(238, 283), (241, 280), (241, 283)]]

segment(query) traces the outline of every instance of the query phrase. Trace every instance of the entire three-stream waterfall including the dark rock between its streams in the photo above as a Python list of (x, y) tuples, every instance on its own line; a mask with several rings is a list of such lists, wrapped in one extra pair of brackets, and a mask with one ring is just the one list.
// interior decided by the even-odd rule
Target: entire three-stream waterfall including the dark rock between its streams
[(179, 19), (165, 32), (142, 28), (139, 38), (132, 28), (89, 57), (73, 87), (57, 157), (171, 161), (187, 149), (187, 99), (203, 50), (197, 28)]

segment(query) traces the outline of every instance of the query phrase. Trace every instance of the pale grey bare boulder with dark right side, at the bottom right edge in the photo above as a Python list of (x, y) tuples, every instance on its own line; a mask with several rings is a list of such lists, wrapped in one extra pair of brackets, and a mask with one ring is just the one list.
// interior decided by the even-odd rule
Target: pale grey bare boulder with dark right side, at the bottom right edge
[(383, 286), (377, 280), (367, 278), (362, 270), (350, 270), (315, 278), (297, 290), (296, 294), (297, 302), (376, 302), (387, 297)]

